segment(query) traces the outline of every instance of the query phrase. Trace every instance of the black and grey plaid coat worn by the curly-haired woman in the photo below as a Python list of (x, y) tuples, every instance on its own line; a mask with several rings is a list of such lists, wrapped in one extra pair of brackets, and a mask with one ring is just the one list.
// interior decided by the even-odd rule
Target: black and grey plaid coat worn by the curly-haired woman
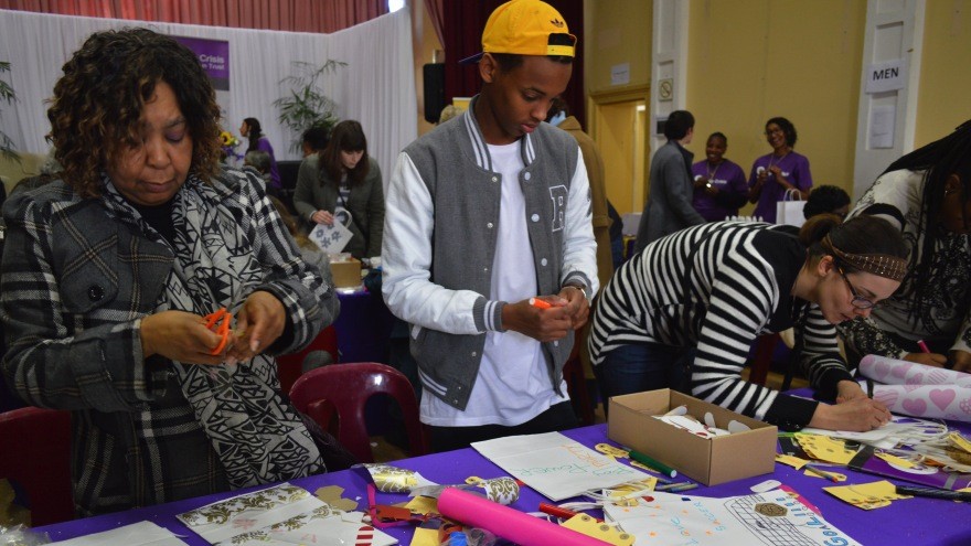
[[(188, 296), (178, 299), (191, 296), (193, 309), (182, 310), (199, 314), (232, 309), (255, 290), (274, 293), (288, 320), (271, 354), (309, 343), (333, 321), (339, 306), (300, 257), (273, 204), (239, 171), (225, 170), (212, 183), (190, 175), (177, 195), (177, 233), (183, 239), (185, 233), (200, 233), (203, 240), (171, 245), (107, 180), (104, 193), (81, 200), (58, 181), (3, 206), (0, 319), (9, 346), (3, 376), (28, 404), (73, 410), (72, 473), (81, 515), (230, 489), (221, 459), (183, 396), (177, 364), (142, 356), (141, 319), (171, 307), (167, 290), (188, 287)], [(186, 203), (195, 216), (181, 215)], [(186, 229), (192, 217), (205, 218), (205, 225)], [(199, 247), (213, 245), (225, 245), (222, 255), (231, 258), (214, 264), (212, 275), (196, 271), (191, 279), (173, 280), (177, 266), (191, 261)], [(239, 370), (279, 390), (271, 357), (258, 356)], [(282, 414), (275, 424), (296, 415), (278, 394), (254, 404)], [(318, 467), (311, 462), (301, 471), (308, 468)]]

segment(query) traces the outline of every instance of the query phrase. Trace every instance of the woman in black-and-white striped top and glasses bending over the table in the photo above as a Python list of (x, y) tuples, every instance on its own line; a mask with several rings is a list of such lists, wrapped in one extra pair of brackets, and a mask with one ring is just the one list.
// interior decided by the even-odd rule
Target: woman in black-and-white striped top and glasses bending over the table
[[(590, 354), (605, 399), (675, 388), (782, 429), (869, 430), (889, 419), (846, 368), (833, 324), (866, 317), (900, 285), (907, 248), (881, 218), (802, 228), (714, 222), (622, 265), (597, 300)], [(744, 381), (758, 335), (794, 328), (800, 365), (836, 405)]]

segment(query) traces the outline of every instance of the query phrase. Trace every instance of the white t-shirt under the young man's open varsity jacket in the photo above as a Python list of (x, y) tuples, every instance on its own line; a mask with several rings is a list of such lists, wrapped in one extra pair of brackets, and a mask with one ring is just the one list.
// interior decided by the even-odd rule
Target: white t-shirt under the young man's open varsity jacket
[[(491, 300), (510, 303), (536, 296), (536, 270), (526, 226), (526, 202), (519, 174), (525, 164), (520, 142), (489, 144), (494, 170), (502, 176), (499, 231), (492, 261)], [(566, 394), (566, 383), (561, 382)], [(438, 427), (522, 425), (549, 406), (565, 402), (549, 385), (538, 341), (511, 330), (487, 332), (479, 376), (466, 410), (435, 396), (422, 397), (422, 421)]]

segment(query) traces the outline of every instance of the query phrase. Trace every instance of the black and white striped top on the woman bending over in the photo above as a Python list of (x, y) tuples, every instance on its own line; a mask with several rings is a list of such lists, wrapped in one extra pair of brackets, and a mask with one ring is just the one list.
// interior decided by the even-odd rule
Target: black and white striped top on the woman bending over
[(805, 261), (805, 247), (790, 229), (716, 222), (648, 245), (598, 298), (589, 340), (594, 364), (623, 344), (696, 346), (694, 396), (785, 428), (805, 426), (817, 403), (739, 375), (759, 334), (796, 325), (803, 341), (800, 365), (813, 387), (834, 396), (836, 384), (852, 378), (835, 328), (817, 304), (790, 296)]

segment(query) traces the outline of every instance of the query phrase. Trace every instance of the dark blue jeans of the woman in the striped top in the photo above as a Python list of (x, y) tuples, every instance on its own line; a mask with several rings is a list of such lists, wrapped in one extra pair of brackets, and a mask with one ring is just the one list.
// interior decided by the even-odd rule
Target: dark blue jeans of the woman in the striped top
[(594, 366), (594, 374), (605, 402), (611, 396), (659, 388), (690, 393), (694, 354), (694, 347), (674, 347), (661, 343), (620, 345)]

